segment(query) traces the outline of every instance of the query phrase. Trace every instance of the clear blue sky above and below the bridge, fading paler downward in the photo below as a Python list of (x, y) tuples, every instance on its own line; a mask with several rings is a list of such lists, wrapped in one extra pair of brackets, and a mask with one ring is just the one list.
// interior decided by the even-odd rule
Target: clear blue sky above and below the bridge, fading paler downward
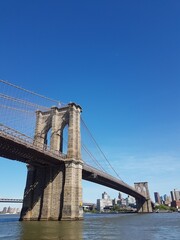
[[(180, 1), (0, 1), (0, 78), (80, 104), (121, 178), (180, 189)], [(0, 159), (0, 197), (23, 196), (25, 164)], [(107, 191), (83, 182), (84, 201)], [(1, 208), (2, 204), (0, 205)]]

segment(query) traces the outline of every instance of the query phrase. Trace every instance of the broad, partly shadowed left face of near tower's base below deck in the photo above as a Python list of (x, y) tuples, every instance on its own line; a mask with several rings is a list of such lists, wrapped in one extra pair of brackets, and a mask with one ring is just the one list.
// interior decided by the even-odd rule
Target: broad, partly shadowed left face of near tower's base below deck
[(59, 220), (63, 179), (63, 164), (56, 169), (28, 166), (20, 220)]

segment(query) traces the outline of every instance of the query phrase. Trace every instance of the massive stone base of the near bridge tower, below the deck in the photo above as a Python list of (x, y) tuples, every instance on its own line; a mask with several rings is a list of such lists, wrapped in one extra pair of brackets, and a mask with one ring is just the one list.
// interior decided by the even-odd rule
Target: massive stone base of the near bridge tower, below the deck
[(20, 220), (81, 220), (82, 163), (57, 167), (28, 166)]

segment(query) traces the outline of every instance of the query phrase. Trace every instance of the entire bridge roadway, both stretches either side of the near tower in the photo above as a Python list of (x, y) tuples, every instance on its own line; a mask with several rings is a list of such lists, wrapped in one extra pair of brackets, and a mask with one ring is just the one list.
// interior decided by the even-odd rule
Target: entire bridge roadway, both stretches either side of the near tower
[[(0, 124), (0, 157), (36, 166), (57, 166), (67, 159), (66, 155), (52, 151), (45, 145), (43, 148), (35, 146), (33, 139), (2, 124)], [(86, 163), (83, 164), (82, 178), (121, 191), (137, 199), (146, 199), (142, 193), (137, 192), (130, 185)]]

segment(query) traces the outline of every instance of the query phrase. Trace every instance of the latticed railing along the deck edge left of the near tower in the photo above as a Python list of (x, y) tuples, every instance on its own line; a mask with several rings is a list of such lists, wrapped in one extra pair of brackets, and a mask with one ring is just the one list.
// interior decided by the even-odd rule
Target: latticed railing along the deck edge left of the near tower
[(56, 157), (61, 157), (61, 158), (67, 158), (66, 154), (63, 154), (59, 151), (52, 150), (50, 149), (50, 146), (46, 144), (41, 144), (41, 147), (37, 146), (37, 141), (36, 144), (34, 144), (34, 139), (26, 136), (23, 133), (20, 133), (12, 128), (9, 128), (3, 124), (0, 123), (0, 134), (4, 135), (5, 137), (13, 139), (15, 142), (23, 143), (23, 145), (26, 145), (27, 147), (32, 147), (40, 152), (46, 152), (49, 153), (50, 155), (54, 155)]

